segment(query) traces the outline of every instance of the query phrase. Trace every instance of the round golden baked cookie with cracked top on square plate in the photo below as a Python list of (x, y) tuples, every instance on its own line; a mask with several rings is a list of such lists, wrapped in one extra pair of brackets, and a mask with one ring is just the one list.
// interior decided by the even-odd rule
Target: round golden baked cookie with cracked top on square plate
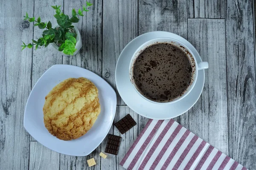
[(77, 139), (99, 116), (98, 89), (84, 77), (66, 79), (47, 94), (43, 111), (49, 133), (62, 140)]

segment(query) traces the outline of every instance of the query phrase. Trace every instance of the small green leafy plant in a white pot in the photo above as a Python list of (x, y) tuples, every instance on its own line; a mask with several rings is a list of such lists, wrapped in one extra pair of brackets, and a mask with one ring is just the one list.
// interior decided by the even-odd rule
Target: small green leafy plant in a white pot
[(37, 50), (38, 46), (47, 47), (51, 43), (52, 46), (56, 50), (60, 51), (64, 56), (76, 55), (82, 47), (82, 40), (79, 30), (73, 25), (73, 23), (78, 23), (79, 18), (77, 16), (84, 16), (83, 12), (89, 11), (87, 10), (87, 7), (92, 5), (92, 3), (86, 2), (86, 6), (83, 6), (83, 8), (79, 9), (78, 12), (73, 9), (72, 17), (63, 14), (60, 9), (61, 6), (52, 6), (56, 11), (54, 17), (57, 19), (58, 23), (58, 26), (55, 27), (52, 27), (52, 23), (50, 21), (48, 23), (44, 23), (41, 22), (40, 17), (35, 20), (35, 17), (29, 17), (28, 13), (26, 13), (24, 20), (35, 22), (34, 26), (38, 26), (40, 29), (46, 28), (46, 30), (43, 31), (42, 37), (37, 41), (32, 40), (32, 43), (27, 45), (23, 42), (23, 45), (21, 45), (22, 50), (26, 47), (32, 48), (33, 45), (35, 45), (35, 49)]

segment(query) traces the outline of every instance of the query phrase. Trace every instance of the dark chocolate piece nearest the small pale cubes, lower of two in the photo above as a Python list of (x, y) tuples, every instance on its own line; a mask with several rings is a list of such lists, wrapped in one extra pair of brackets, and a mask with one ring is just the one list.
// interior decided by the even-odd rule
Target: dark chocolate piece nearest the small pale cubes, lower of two
[(118, 154), (118, 150), (119, 150), (119, 145), (121, 142), (121, 137), (120, 136), (115, 136), (115, 135), (111, 135), (109, 134), (108, 136), (108, 143), (105, 149), (105, 153), (110, 153), (113, 155), (117, 155)]

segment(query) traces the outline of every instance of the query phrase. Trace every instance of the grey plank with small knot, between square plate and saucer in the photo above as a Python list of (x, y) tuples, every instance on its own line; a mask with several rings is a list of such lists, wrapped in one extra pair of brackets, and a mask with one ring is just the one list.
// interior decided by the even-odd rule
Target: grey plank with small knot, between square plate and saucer
[[(116, 88), (115, 65), (125, 45), (137, 37), (137, 0), (103, 3), (102, 77)], [(125, 105), (117, 93), (117, 105)]]

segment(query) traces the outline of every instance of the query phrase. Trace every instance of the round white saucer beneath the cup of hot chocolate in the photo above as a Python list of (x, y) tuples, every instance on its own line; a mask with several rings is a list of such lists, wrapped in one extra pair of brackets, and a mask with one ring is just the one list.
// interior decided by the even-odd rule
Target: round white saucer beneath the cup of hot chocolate
[(129, 64), (132, 55), (143, 43), (148, 40), (159, 38), (159, 37), (170, 37), (180, 42), (183, 42), (194, 54), (196, 60), (201, 62), (202, 59), (199, 56), (196, 49), (184, 38), (164, 31), (154, 31), (136, 37), (134, 40), (128, 43), (120, 54), (116, 63), (116, 88), (122, 97), (123, 101), (128, 105), (133, 111), (137, 112), (141, 116), (150, 119), (171, 119), (176, 116), (188, 111), (199, 99), (203, 88), (204, 88), (204, 70), (198, 71), (198, 79), (196, 81), (195, 87), (192, 91), (180, 101), (169, 105), (160, 105), (148, 102), (143, 99), (133, 88), (130, 77), (129, 77)]

